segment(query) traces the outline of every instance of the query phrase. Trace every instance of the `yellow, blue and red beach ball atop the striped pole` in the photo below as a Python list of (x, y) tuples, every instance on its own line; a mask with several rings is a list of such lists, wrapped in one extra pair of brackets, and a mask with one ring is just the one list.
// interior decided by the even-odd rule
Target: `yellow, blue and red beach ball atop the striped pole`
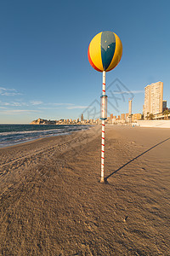
[(122, 42), (114, 32), (99, 32), (88, 46), (88, 61), (99, 72), (111, 71), (122, 58)]

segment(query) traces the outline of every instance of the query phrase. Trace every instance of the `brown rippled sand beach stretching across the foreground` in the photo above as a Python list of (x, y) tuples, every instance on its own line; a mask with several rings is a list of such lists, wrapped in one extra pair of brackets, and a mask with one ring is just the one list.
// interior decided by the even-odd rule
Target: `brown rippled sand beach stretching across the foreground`
[(0, 149), (2, 255), (170, 255), (170, 130), (106, 126)]

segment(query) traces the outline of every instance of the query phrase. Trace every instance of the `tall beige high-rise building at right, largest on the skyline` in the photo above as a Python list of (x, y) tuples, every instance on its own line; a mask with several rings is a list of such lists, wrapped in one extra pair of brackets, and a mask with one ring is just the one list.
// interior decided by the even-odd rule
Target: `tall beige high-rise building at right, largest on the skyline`
[(147, 113), (162, 113), (163, 83), (149, 84), (144, 88), (144, 117)]

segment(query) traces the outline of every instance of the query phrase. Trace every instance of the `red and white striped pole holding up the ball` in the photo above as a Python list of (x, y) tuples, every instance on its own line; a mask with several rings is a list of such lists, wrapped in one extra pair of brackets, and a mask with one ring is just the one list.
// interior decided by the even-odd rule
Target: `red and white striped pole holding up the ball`
[(105, 119), (107, 119), (107, 96), (105, 95), (105, 71), (103, 71), (103, 88), (101, 96), (101, 180), (100, 183), (105, 183), (104, 166), (105, 166)]

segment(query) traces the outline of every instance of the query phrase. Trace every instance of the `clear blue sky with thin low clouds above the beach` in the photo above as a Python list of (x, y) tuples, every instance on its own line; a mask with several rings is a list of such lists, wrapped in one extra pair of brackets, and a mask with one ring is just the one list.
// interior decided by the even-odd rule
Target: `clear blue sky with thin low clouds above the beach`
[[(170, 108), (169, 9), (167, 0), (0, 1), (0, 123), (86, 115), (101, 94), (102, 73), (88, 62), (101, 31), (116, 32), (123, 46), (106, 85), (118, 79), (133, 92), (133, 113), (142, 113), (144, 87), (162, 81)], [(109, 113), (127, 113), (130, 94), (119, 96), (108, 99)]]

